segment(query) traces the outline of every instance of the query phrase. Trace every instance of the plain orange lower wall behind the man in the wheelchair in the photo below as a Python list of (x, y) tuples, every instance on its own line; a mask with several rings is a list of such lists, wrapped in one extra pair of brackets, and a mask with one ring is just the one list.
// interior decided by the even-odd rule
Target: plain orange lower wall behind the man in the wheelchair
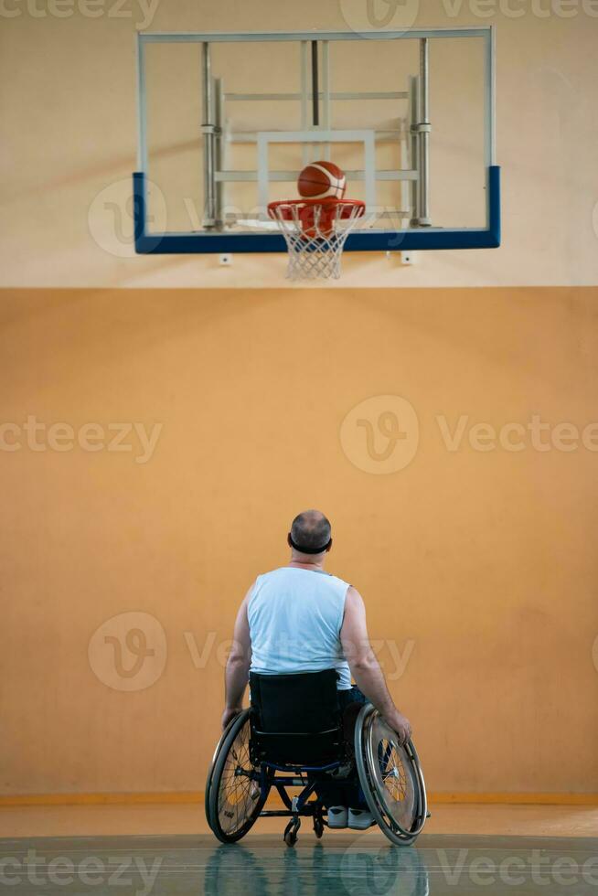
[[(333, 521), (330, 569), (390, 642), (380, 657), (432, 790), (597, 791), (598, 453), (529, 439), (485, 452), (467, 434), (539, 414), (557, 438), (559, 422), (598, 419), (597, 300), (592, 288), (1, 292), (0, 423), (162, 424), (146, 463), (131, 436), (131, 452), (6, 451), (23, 433), (2, 431), (2, 792), (201, 789), (234, 613), (311, 506)], [(380, 395), (419, 421), (411, 464), (386, 475), (359, 442), (365, 426), (350, 457), (340, 441), (347, 413)], [(359, 419), (375, 427), (385, 401)], [(451, 431), (467, 416), (458, 450), (439, 415)], [(164, 641), (135, 616), (90, 648), (125, 612), (154, 616)], [(130, 628), (155, 655), (119, 677), (103, 636)], [(124, 650), (125, 672), (134, 660)]]

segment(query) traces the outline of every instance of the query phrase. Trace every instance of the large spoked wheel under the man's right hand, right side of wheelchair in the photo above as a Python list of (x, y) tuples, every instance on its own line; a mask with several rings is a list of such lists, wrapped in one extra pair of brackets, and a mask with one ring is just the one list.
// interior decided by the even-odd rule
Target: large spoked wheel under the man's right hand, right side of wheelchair
[(409, 846), (425, 824), (425, 784), (411, 741), (400, 746), (397, 734), (377, 709), (366, 704), (355, 727), (359, 783), (382, 833), (391, 843)]

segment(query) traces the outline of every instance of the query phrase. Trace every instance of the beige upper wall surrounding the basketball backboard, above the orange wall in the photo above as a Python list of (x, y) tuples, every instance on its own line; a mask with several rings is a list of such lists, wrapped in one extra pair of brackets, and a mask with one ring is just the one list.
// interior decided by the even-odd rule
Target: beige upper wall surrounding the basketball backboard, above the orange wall
[[(236, 256), (231, 268), (221, 269), (211, 256), (127, 257), (126, 246), (125, 257), (113, 253), (114, 216), (106, 215), (104, 204), (125, 202), (135, 167), (133, 32), (344, 29), (364, 21), (364, 0), (157, 0), (153, 7), (140, 0), (94, 2), (95, 7), (84, 0), (4, 0), (0, 6), (0, 283), (280, 285), (283, 256)], [(56, 15), (69, 14), (73, 6), (73, 15)], [(380, 5), (379, 15), (388, 9)], [(418, 27), (497, 26), (503, 246), (420, 253), (410, 269), (378, 253), (347, 256), (343, 284), (596, 283), (598, 3), (422, 0), (417, 8), (411, 0), (398, 9), (408, 9)], [(92, 18), (81, 10), (101, 15)], [(130, 229), (129, 211), (130, 204), (123, 233)]]

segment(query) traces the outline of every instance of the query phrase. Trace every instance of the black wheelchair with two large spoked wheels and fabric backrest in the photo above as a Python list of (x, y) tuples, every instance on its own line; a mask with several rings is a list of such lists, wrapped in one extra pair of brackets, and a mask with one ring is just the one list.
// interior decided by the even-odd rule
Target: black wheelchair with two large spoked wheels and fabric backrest
[[(412, 741), (397, 734), (370, 703), (359, 709), (347, 743), (336, 670), (251, 673), (251, 707), (230, 721), (214, 752), (206, 784), (206, 817), (223, 843), (244, 837), (260, 817), (286, 817), (283, 839), (293, 847), (301, 819), (315, 837), (327, 827), (322, 792), (352, 784), (374, 824), (391, 843), (410, 846), (429, 816), (422, 768)], [(272, 788), (283, 809), (265, 809)], [(300, 788), (290, 796), (287, 788)], [(326, 802), (330, 802), (330, 799)], [(334, 803), (332, 804), (334, 805)]]

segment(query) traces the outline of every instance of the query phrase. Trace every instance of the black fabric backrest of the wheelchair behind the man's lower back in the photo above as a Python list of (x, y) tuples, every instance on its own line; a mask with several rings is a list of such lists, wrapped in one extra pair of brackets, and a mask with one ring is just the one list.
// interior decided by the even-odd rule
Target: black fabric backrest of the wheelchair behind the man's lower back
[(345, 741), (335, 669), (292, 675), (251, 672), (251, 751), (256, 763), (339, 763)]

